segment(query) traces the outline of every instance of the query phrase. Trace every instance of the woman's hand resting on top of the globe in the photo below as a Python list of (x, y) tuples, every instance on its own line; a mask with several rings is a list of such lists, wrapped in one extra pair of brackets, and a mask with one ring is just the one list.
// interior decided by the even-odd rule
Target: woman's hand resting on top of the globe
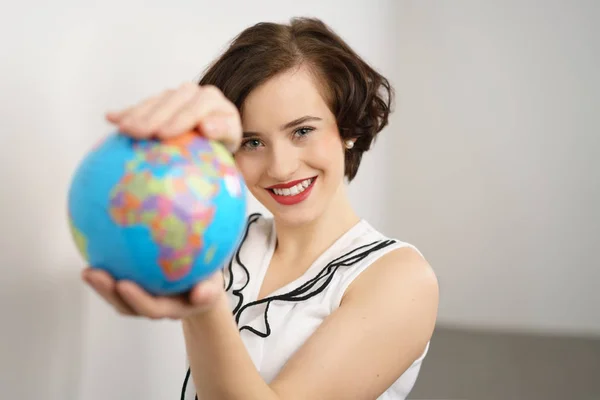
[(106, 114), (106, 119), (131, 137), (172, 138), (197, 131), (235, 152), (242, 140), (237, 107), (214, 86), (189, 82), (140, 103)]

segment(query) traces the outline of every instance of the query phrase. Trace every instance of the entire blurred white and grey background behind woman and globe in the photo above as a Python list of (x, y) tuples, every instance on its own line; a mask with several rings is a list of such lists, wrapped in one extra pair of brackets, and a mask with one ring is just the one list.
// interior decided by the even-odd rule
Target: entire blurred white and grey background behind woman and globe
[(71, 174), (111, 131), (105, 111), (196, 79), (242, 29), (292, 16), (322, 18), (397, 90), (350, 192), (440, 281), (410, 398), (600, 399), (594, 0), (5, 5), (0, 397), (179, 398), (179, 324), (120, 317), (79, 279)]

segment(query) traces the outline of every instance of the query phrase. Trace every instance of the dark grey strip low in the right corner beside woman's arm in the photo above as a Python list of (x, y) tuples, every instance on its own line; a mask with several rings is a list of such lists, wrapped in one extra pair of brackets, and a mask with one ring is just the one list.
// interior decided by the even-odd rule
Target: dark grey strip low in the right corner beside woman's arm
[(409, 398), (598, 400), (600, 339), (436, 329)]

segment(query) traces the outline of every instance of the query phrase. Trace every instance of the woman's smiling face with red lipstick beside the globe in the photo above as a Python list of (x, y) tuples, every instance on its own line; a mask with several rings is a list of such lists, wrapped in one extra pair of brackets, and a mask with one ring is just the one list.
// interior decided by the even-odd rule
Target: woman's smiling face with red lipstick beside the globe
[(306, 69), (254, 89), (243, 104), (242, 126), (237, 166), (250, 192), (279, 222), (309, 222), (335, 206), (344, 148), (335, 116)]

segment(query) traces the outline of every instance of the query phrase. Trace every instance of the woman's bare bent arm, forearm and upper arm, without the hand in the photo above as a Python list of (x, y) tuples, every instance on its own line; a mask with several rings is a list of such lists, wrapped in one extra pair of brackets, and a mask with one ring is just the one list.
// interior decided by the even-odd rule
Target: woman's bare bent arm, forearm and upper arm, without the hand
[(267, 385), (222, 296), (183, 320), (192, 378), (203, 400), (373, 399), (424, 351), (435, 326), (438, 285), (410, 248), (363, 272), (334, 311)]

